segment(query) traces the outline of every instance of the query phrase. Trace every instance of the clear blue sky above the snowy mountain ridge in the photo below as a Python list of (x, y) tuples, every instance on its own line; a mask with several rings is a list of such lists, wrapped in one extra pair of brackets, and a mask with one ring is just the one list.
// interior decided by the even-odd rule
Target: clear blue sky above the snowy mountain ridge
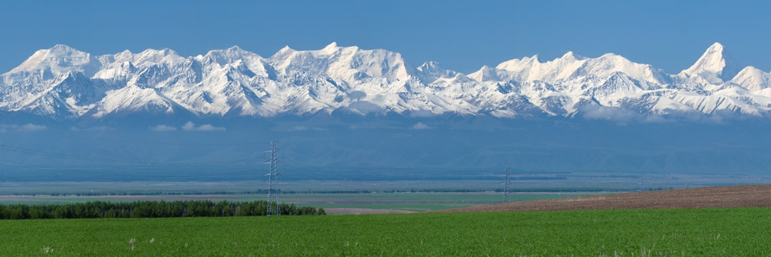
[(463, 73), (571, 50), (678, 73), (722, 42), (740, 64), (769, 71), (769, 10), (766, 1), (2, 1), (0, 73), (58, 43), (181, 56), (237, 45), (268, 57), (333, 41)]

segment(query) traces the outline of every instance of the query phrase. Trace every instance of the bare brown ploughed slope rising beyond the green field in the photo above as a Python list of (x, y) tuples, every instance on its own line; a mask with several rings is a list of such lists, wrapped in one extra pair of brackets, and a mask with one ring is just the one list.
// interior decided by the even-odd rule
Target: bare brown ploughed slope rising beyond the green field
[(771, 207), (771, 184), (687, 188), (518, 201), (437, 212)]

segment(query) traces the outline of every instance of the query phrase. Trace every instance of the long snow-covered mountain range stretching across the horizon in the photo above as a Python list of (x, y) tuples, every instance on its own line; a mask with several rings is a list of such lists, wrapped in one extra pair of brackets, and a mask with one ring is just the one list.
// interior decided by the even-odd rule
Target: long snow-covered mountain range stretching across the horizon
[(264, 58), (237, 46), (182, 57), (170, 49), (94, 56), (57, 45), (0, 79), (0, 112), (56, 120), (127, 114), (197, 117), (335, 112), (517, 117), (612, 113), (769, 117), (771, 73), (739, 66), (719, 43), (678, 74), (608, 53), (511, 59), (463, 74), (398, 52), (284, 47)]

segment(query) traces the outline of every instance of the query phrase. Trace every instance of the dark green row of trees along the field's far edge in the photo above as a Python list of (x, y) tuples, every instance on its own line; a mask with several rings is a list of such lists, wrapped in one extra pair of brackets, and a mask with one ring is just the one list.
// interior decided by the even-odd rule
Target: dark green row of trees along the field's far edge
[[(280, 204), (281, 215), (326, 215), (323, 208)], [(0, 205), (0, 219), (263, 216), (267, 201), (89, 201), (69, 205)]]

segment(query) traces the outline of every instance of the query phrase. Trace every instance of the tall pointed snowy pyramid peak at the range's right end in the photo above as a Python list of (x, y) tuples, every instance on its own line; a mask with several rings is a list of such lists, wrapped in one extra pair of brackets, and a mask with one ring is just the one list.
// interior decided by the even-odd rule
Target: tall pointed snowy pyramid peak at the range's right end
[(726, 48), (715, 42), (696, 63), (680, 74), (686, 77), (699, 76), (709, 83), (720, 84), (731, 80), (740, 70), (741, 67), (728, 54)]

